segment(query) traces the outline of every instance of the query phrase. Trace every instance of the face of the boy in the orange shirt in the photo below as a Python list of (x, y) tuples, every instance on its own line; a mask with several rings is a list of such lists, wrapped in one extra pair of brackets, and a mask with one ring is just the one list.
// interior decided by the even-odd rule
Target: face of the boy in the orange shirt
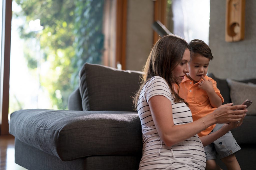
[(200, 54), (195, 54), (188, 63), (189, 79), (198, 82), (201, 80), (201, 75), (205, 77), (208, 71), (209, 62), (210, 58), (206, 58)]

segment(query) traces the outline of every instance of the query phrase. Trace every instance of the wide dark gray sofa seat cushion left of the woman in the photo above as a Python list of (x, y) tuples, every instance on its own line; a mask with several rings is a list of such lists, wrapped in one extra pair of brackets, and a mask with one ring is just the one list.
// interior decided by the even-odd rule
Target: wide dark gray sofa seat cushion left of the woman
[(29, 109), (11, 114), (18, 140), (69, 161), (92, 155), (141, 155), (137, 112)]

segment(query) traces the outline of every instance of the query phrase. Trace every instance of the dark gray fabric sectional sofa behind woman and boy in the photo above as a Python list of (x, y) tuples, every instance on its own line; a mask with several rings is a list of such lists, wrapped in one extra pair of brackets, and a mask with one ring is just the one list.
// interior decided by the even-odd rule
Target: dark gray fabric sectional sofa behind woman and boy
[[(31, 170), (138, 169), (141, 123), (131, 96), (140, 87), (141, 74), (85, 64), (80, 86), (69, 97), (69, 110), (12, 113), (9, 132), (15, 136), (15, 163)], [(255, 121), (256, 116), (247, 116), (232, 131), (242, 148), (237, 153), (242, 169), (256, 167), (256, 134), (251, 133)]]

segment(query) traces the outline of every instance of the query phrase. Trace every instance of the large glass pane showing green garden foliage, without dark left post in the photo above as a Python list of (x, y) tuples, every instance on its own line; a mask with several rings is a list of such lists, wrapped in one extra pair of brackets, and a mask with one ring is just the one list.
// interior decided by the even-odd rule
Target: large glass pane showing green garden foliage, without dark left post
[(16, 0), (12, 10), (9, 113), (67, 109), (84, 63), (115, 66), (115, 1)]

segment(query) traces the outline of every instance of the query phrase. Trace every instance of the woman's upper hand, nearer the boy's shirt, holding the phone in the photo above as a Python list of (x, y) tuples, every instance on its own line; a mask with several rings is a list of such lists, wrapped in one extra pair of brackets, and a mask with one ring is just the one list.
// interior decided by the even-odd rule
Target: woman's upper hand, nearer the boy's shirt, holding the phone
[(247, 109), (243, 110), (236, 110), (245, 108), (246, 105), (234, 105), (233, 103), (227, 103), (224, 105), (221, 105), (218, 107), (214, 112), (212, 112), (212, 116), (214, 117), (216, 123), (230, 123), (230, 122), (238, 122), (240, 121), (239, 126), (241, 125), (241, 122), (246, 116)]

